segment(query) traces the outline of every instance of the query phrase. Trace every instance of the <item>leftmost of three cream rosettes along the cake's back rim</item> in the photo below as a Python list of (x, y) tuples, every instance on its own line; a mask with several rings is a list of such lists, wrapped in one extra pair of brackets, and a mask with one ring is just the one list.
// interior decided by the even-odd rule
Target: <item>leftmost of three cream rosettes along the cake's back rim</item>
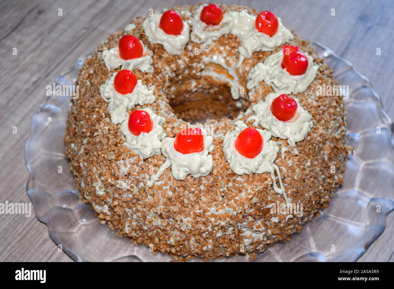
[(186, 21), (182, 20), (183, 29), (180, 35), (167, 34), (159, 27), (162, 15), (163, 14), (155, 13), (144, 20), (142, 27), (145, 34), (149, 42), (162, 44), (168, 53), (180, 55), (186, 43), (189, 41), (189, 25)]

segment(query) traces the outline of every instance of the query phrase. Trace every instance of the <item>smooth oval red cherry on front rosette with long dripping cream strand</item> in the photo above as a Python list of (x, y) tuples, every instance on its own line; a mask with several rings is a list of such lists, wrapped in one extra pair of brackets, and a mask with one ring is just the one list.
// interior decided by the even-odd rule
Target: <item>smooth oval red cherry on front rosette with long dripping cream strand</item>
[(245, 156), (245, 158), (254, 158), (263, 149), (264, 140), (261, 134), (253, 127), (247, 127), (235, 140), (235, 148)]

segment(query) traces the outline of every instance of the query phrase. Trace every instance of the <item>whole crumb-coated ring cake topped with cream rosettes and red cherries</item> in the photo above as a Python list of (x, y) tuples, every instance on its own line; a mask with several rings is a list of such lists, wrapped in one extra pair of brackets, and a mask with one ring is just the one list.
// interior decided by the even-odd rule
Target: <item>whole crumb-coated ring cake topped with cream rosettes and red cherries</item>
[(317, 96), (322, 83), (336, 85), (332, 70), (269, 11), (138, 17), (76, 83), (65, 153), (82, 200), (155, 254), (253, 259), (343, 182), (344, 101)]

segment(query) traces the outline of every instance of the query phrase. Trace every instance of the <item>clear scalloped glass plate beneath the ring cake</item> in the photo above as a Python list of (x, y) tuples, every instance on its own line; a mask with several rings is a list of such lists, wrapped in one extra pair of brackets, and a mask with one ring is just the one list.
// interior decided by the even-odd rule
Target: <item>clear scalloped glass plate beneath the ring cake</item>
[[(334, 70), (338, 85), (349, 85), (346, 99), (348, 156), (344, 184), (328, 209), (303, 225), (290, 241), (278, 242), (256, 254), (256, 261), (355, 261), (383, 232), (386, 216), (394, 209), (393, 122), (383, 110), (370, 81), (351, 63), (320, 43), (315, 51)], [(71, 85), (83, 63), (56, 79)], [(48, 226), (49, 236), (76, 261), (171, 261), (167, 254), (153, 255), (149, 248), (118, 237), (99, 223), (90, 205), (82, 204), (65, 158), (65, 121), (70, 96), (48, 96), (32, 118), (25, 146), (30, 172), (26, 185), (35, 215)], [(202, 261), (193, 258), (191, 261)], [(212, 261), (250, 261), (240, 255)]]

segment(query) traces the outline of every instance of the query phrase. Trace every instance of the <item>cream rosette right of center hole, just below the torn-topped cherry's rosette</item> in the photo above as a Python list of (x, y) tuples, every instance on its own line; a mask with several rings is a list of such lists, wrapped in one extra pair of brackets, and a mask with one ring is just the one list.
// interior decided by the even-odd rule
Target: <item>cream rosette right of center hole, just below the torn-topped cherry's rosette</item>
[[(299, 100), (294, 98), (297, 102), (297, 119), (293, 122), (284, 122), (278, 120), (271, 112), (272, 101), (284, 94), (284, 92), (273, 92), (266, 95), (264, 101), (256, 103), (252, 110), (255, 116), (250, 116), (247, 121), (254, 120), (253, 125), (257, 126), (259, 123), (264, 129), (268, 129), (273, 136), (277, 138), (287, 139), (291, 147), (296, 146), (296, 142), (300, 142), (307, 136), (310, 129), (313, 127), (312, 116), (299, 104)], [(290, 97), (290, 96), (289, 96)]]

